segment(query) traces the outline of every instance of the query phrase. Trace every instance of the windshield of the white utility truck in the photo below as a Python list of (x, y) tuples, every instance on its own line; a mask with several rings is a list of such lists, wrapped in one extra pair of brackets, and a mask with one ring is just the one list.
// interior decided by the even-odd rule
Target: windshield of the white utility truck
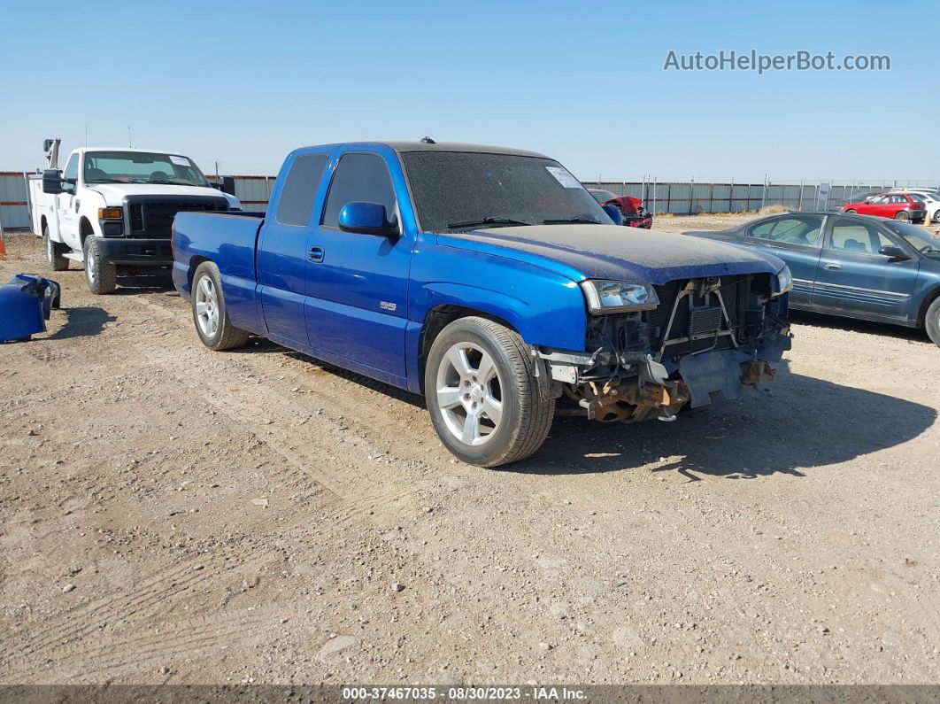
[(87, 151), (85, 182), (209, 185), (189, 157), (149, 151)]

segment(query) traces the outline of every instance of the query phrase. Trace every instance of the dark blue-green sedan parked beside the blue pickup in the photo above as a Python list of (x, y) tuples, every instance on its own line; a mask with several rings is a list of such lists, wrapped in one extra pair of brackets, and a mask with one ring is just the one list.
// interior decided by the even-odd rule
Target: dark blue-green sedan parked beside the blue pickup
[(790, 306), (924, 328), (940, 345), (940, 238), (868, 215), (788, 212), (683, 234), (776, 255), (793, 274)]

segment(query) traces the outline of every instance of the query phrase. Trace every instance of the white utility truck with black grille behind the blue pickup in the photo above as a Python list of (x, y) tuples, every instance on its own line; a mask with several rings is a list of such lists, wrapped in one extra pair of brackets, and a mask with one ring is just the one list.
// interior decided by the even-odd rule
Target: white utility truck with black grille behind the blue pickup
[[(84, 263), (88, 289), (110, 293), (118, 274), (173, 262), (170, 227), (179, 211), (240, 211), (187, 156), (162, 149), (86, 147), (56, 168), (46, 140), (41, 193), (31, 184), (33, 224), (53, 271)], [(39, 179), (33, 180), (36, 185)]]

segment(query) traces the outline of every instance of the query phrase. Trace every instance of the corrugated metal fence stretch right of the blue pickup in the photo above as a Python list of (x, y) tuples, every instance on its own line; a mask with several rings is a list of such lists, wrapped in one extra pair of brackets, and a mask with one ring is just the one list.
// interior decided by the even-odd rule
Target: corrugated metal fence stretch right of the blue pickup
[(693, 215), (697, 212), (759, 211), (781, 206), (791, 211), (830, 210), (859, 194), (892, 188), (940, 190), (937, 181), (866, 180), (848, 183), (797, 181), (790, 183), (697, 183), (695, 181), (585, 181), (615, 196), (640, 198), (653, 212)]

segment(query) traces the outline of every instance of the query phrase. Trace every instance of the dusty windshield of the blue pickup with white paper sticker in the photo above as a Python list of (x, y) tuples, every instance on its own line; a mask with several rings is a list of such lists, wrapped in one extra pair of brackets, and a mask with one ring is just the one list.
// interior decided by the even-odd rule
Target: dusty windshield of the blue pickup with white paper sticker
[(421, 227), (428, 232), (613, 222), (551, 159), (466, 151), (406, 151), (401, 158)]

